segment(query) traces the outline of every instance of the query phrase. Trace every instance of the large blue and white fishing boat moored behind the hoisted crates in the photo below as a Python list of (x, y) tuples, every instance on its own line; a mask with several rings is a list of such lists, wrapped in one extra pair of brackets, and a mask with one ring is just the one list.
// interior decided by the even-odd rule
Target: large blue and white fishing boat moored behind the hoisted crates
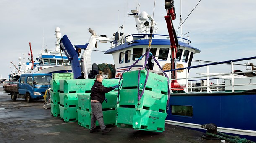
[[(76, 71), (74, 77), (89, 78), (91, 74), (98, 74), (91, 64), (91, 52), (97, 47), (97, 41), (110, 42), (110, 49), (105, 54), (113, 56), (115, 78), (120, 78), (122, 72), (136, 61), (138, 63), (131, 70), (140, 69), (146, 62), (146, 68), (150, 72), (163, 75), (163, 69), (169, 75), (172, 82), (166, 123), (196, 130), (202, 130), (203, 124), (214, 123), (218, 131), (256, 140), (256, 115), (253, 114), (256, 110), (256, 68), (248, 63), (256, 57), (191, 66), (194, 54), (200, 53), (200, 50), (190, 45), (190, 40), (178, 37), (173, 41), (177, 45), (175, 51), (170, 34), (157, 34), (157, 23), (148, 13), (139, 13), (137, 10), (131, 12), (129, 15), (132, 15), (136, 22), (136, 34), (117, 31), (114, 37), (108, 38), (106, 35), (96, 35), (96, 32), (89, 28), (92, 34), (89, 42), (85, 45), (75, 45), (74, 48), (67, 35), (63, 36), (60, 45), (66, 55), (70, 55), (68, 59), (71, 65), (75, 65), (72, 69), (73, 72)], [(149, 48), (162, 69), (152, 57), (142, 57)], [(76, 51), (81, 49), (84, 51), (79, 63), (77, 59), (80, 53)], [(246, 64), (241, 64), (244, 61)], [(211, 73), (209, 70), (222, 65), (230, 68), (221, 68), (219, 73)], [(247, 70), (242, 71), (246, 66)], [(201, 72), (190, 77), (190, 73), (198, 68)], [(240, 70), (235, 70), (236, 68)]]

